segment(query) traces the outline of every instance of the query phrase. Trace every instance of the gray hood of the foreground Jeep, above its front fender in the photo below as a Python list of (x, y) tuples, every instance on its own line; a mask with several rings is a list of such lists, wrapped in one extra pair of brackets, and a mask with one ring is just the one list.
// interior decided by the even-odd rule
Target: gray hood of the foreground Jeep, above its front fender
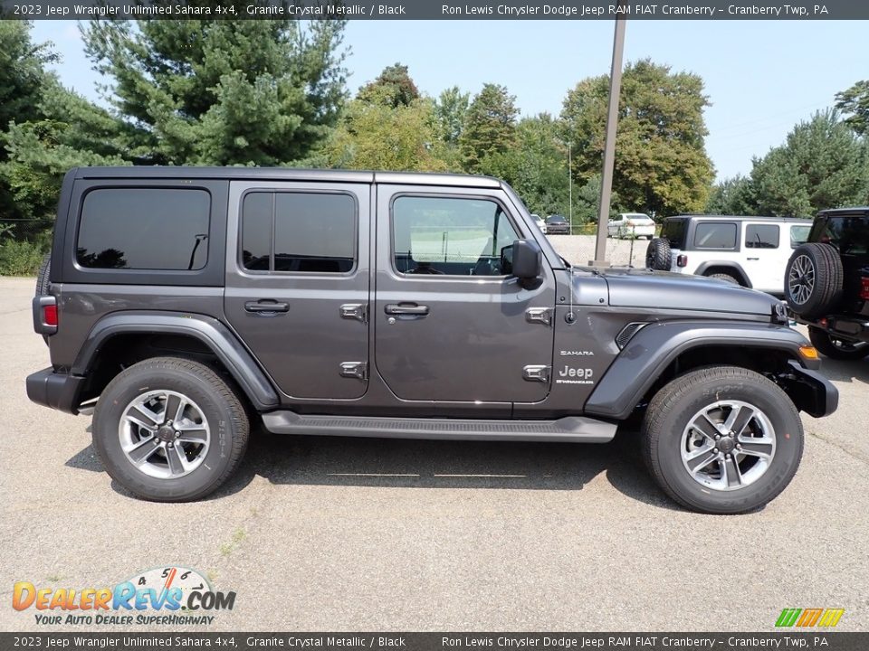
[(730, 312), (771, 316), (779, 301), (723, 280), (649, 269), (606, 269), (613, 307)]

